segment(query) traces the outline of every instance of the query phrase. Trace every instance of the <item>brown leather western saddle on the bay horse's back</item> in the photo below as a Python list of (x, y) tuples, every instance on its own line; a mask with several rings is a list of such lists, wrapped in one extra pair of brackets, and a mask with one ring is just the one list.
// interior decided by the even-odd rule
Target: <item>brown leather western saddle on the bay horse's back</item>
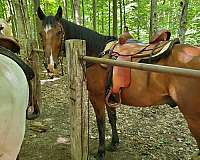
[[(173, 45), (179, 43), (178, 39), (170, 41), (170, 35), (168, 30), (161, 30), (149, 44), (131, 43), (132, 40), (120, 36), (118, 43), (111, 48), (110, 57), (123, 61), (137, 58), (140, 63), (155, 63), (162, 57), (167, 57)], [(131, 69), (113, 66), (109, 70), (111, 73), (108, 74), (106, 82), (106, 104), (115, 106), (121, 103), (121, 89), (129, 87), (131, 83)]]

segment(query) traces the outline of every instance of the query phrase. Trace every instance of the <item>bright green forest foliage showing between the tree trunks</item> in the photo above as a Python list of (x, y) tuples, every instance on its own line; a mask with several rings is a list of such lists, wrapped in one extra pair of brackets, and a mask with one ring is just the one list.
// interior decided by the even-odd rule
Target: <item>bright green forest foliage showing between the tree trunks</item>
[[(82, 6), (82, 1), (83, 5)], [(121, 0), (122, 1), (122, 0)], [(93, 10), (92, 0), (80, 0), (81, 19), (83, 21), (84, 12), (84, 25), (92, 29)], [(125, 19), (126, 25), (133, 34), (135, 39), (140, 39), (147, 42), (149, 39), (149, 24), (150, 24), (150, 1), (149, 0), (124, 0), (125, 6)], [(180, 1), (167, 0), (163, 4), (164, 0), (158, 0), (157, 2), (157, 18), (158, 29), (169, 29), (172, 33), (172, 37), (177, 37), (177, 31), (179, 29), (179, 15), (180, 15)], [(28, 15), (30, 18), (30, 24), (34, 22), (33, 14), (33, 1), (27, 0), (28, 3)], [(67, 8), (64, 8), (64, 4), (67, 4)], [(66, 13), (68, 20), (73, 21), (73, 5), (72, 0), (40, 0), (42, 9), (46, 14), (55, 15), (58, 6), (62, 6), (63, 12)], [(102, 34), (109, 33), (109, 0), (97, 1), (97, 32)], [(118, 0), (118, 33), (120, 33), (120, 9)], [(200, 43), (200, 1), (190, 0), (188, 6), (187, 16), (187, 32), (186, 43), (199, 44)], [(84, 9), (84, 10), (83, 10)], [(9, 17), (10, 9), (7, 0), (0, 1), (0, 18)], [(111, 0), (111, 30), (112, 30), (112, 0)], [(124, 22), (123, 26), (124, 27)], [(112, 31), (111, 31), (112, 33)], [(34, 34), (34, 33), (32, 33)]]

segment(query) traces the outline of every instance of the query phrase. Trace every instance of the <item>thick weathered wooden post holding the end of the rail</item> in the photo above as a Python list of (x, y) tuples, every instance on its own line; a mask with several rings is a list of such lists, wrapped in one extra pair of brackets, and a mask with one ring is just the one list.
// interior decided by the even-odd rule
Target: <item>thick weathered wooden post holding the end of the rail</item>
[(87, 160), (88, 158), (88, 93), (85, 81), (85, 65), (79, 56), (86, 54), (83, 40), (66, 41), (67, 59), (67, 94), (69, 95), (71, 120), (71, 159)]

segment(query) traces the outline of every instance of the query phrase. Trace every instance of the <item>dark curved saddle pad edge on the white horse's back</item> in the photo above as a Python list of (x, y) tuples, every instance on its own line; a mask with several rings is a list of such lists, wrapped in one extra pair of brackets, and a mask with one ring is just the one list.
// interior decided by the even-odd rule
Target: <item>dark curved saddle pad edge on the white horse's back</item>
[(22, 61), (15, 53), (0, 46), (0, 54), (7, 56), (13, 61), (15, 61), (24, 71), (24, 74), (26, 75), (27, 80), (33, 79), (35, 75), (32, 68), (29, 67), (24, 61)]

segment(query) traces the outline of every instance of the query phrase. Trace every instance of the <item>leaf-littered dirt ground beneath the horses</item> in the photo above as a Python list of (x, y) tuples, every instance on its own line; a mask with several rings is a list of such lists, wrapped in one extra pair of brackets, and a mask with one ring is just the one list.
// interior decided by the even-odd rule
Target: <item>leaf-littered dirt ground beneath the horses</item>
[[(70, 120), (65, 77), (42, 85), (42, 113), (27, 121), (20, 160), (70, 160)], [(117, 152), (106, 152), (106, 160), (188, 160), (196, 143), (178, 108), (120, 106)], [(108, 122), (108, 121), (107, 121)], [(40, 126), (41, 129), (38, 129)], [(90, 160), (98, 147), (95, 116), (90, 107)], [(106, 124), (106, 144), (110, 142)]]

